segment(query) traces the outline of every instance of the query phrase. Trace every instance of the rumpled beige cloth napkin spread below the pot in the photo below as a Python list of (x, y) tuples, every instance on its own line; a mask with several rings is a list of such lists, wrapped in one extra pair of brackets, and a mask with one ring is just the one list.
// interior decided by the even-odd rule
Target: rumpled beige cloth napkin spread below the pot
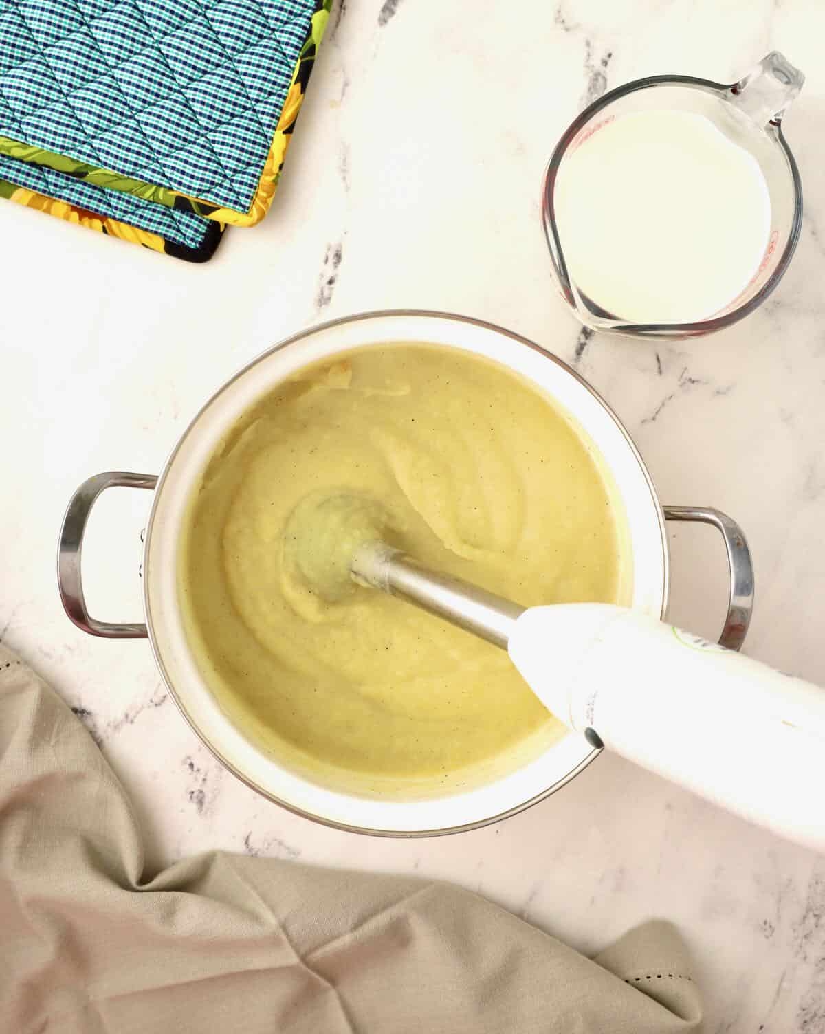
[(676, 1034), (699, 996), (648, 923), (590, 961), (440, 883), (203, 854), (143, 877), (123, 788), (0, 646), (2, 1034)]

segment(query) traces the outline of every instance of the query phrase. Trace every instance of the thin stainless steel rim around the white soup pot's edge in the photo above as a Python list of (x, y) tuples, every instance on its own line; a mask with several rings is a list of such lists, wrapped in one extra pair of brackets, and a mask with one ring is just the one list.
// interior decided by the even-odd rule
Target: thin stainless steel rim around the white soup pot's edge
[[(611, 420), (614, 422), (614, 424), (616, 425), (617, 429), (620, 431), (620, 433), (623, 435), (625, 442), (628, 443), (628, 446), (629, 446), (631, 452), (633, 453), (633, 456), (636, 459), (636, 462), (638, 463), (638, 465), (639, 465), (639, 467), (640, 467), (640, 469), (642, 472), (642, 475), (643, 475), (643, 477), (645, 479), (648, 491), (650, 492), (650, 499), (651, 499), (651, 501), (653, 504), (653, 507), (655, 509), (655, 513), (656, 513), (658, 520), (659, 520), (660, 539), (661, 539), (662, 557), (663, 557), (663, 571), (664, 571), (663, 586), (662, 586), (662, 610), (661, 610), (661, 616), (662, 617), (665, 616), (665, 611), (667, 609), (667, 602), (668, 602), (668, 599), (670, 597), (670, 555), (669, 555), (669, 551), (668, 551), (668, 540), (667, 540), (667, 531), (666, 531), (666, 525), (665, 525), (665, 515), (664, 515), (664, 512), (662, 510), (662, 505), (659, 501), (659, 497), (656, 495), (656, 491), (655, 491), (655, 488), (653, 486), (653, 481), (652, 481), (652, 479), (650, 477), (650, 473), (648, 472), (647, 466), (646, 466), (644, 460), (642, 459), (642, 456), (639, 453), (639, 450), (636, 447), (636, 444), (634, 443), (633, 438), (631, 437), (630, 432), (624, 427), (624, 425), (622, 424), (622, 422), (619, 419), (619, 417), (617, 416), (617, 414), (605, 401), (605, 399), (599, 394), (599, 392), (587, 381), (585, 381), (584, 377), (582, 377), (576, 370), (574, 370), (570, 365), (568, 365), (566, 362), (563, 362), (563, 360), (559, 359), (557, 356), (555, 356), (552, 353), (548, 352), (546, 348), (543, 348), (541, 345), (537, 344), (534, 341), (531, 341), (529, 338), (523, 337), (520, 334), (516, 334), (514, 331), (507, 330), (503, 327), (499, 327), (498, 325), (493, 324), (493, 323), (489, 323), (489, 322), (487, 322), (485, 320), (478, 320), (475, 316), (465, 316), (465, 315), (459, 315), (459, 314), (453, 313), (453, 312), (440, 312), (440, 311), (437, 311), (437, 310), (429, 310), (429, 309), (376, 309), (376, 310), (372, 310), (372, 311), (369, 311), (369, 312), (355, 313), (355, 314), (352, 314), (352, 315), (340, 316), (340, 317), (338, 317), (336, 320), (329, 320), (329, 321), (326, 321), (324, 323), (315, 324), (312, 327), (304, 329), (304, 330), (302, 330), (302, 331), (300, 331), (300, 332), (298, 332), (296, 334), (289, 335), (289, 337), (284, 338), (282, 341), (278, 342), (277, 344), (273, 345), (270, 348), (267, 348), (266, 351), (264, 351), (259, 355), (255, 356), (252, 360), (250, 360), (250, 362), (248, 362), (245, 366), (243, 366), (235, 374), (233, 374), (233, 376), (230, 377), (228, 381), (225, 381), (220, 386), (220, 388), (218, 388), (217, 391), (215, 391), (210, 396), (210, 398), (204, 403), (204, 405), (201, 406), (201, 408), (197, 410), (197, 413), (194, 415), (194, 417), (190, 420), (190, 422), (187, 425), (186, 429), (183, 431), (183, 433), (180, 435), (180, 437), (178, 438), (177, 443), (173, 447), (172, 452), (169, 454), (165, 462), (163, 463), (163, 467), (161, 469), (160, 476), (159, 476), (158, 481), (157, 481), (157, 486), (155, 488), (155, 494), (154, 494), (154, 500), (152, 503), (152, 508), (151, 508), (151, 511), (150, 511), (150, 514), (149, 514), (149, 519), (148, 519), (147, 526), (146, 526), (146, 541), (144, 543), (144, 564), (143, 564), (143, 572), (144, 572), (144, 578), (143, 578), (144, 610), (146, 612), (146, 625), (147, 625), (147, 631), (148, 631), (148, 635), (149, 635), (149, 642), (150, 642), (151, 649), (152, 649), (152, 655), (153, 655), (153, 657), (155, 659), (155, 663), (158, 666), (158, 669), (160, 671), (161, 677), (163, 678), (163, 682), (165, 683), (166, 689), (169, 690), (169, 693), (170, 693), (172, 699), (175, 701), (178, 709), (180, 710), (181, 714), (185, 719), (185, 721), (186, 721), (187, 725), (189, 726), (189, 728), (195, 733), (195, 735), (204, 743), (204, 746), (210, 751), (210, 753), (225, 768), (227, 768), (237, 779), (239, 779), (242, 783), (244, 783), (246, 786), (248, 786), (251, 790), (254, 790), (256, 793), (261, 794), (263, 797), (267, 798), (268, 800), (271, 800), (273, 803), (279, 804), (281, 808), (285, 809), (287, 812), (292, 812), (294, 815), (300, 815), (302, 818), (309, 819), (312, 822), (319, 823), (320, 825), (328, 826), (328, 827), (330, 827), (332, 829), (342, 830), (343, 832), (363, 833), (363, 834), (371, 835), (371, 837), (385, 837), (385, 838), (394, 838), (394, 839), (412, 839), (412, 838), (423, 838), (423, 837), (444, 837), (444, 835), (447, 835), (449, 833), (467, 832), (467, 831), (469, 831), (471, 829), (479, 829), (482, 826), (487, 826), (487, 825), (491, 825), (492, 823), (495, 823), (495, 822), (500, 822), (501, 820), (510, 818), (513, 815), (517, 815), (519, 812), (523, 812), (523, 811), (525, 811), (528, 808), (532, 808), (534, 804), (538, 804), (542, 800), (545, 800), (547, 797), (551, 796), (551, 794), (555, 793), (557, 790), (560, 790), (563, 786), (567, 786), (567, 784), (572, 779), (574, 779), (581, 771), (583, 771), (583, 769), (586, 768), (594, 760), (594, 758), (597, 757), (597, 755), (599, 755), (599, 754), (602, 753), (601, 749), (594, 748), (592, 751), (590, 751), (590, 753), (585, 758), (582, 759), (581, 762), (579, 762), (578, 765), (576, 765), (575, 768), (571, 769), (571, 771), (569, 771), (564, 777), (562, 777), (559, 780), (556, 780), (556, 782), (553, 783), (551, 786), (549, 786), (546, 790), (543, 790), (541, 793), (534, 795), (533, 797), (531, 797), (531, 798), (529, 798), (527, 800), (524, 800), (524, 801), (522, 801), (522, 802), (520, 802), (518, 804), (515, 804), (513, 808), (510, 808), (510, 809), (508, 809), (508, 810), (506, 810), (503, 812), (497, 813), (495, 815), (491, 815), (488, 818), (479, 819), (479, 820), (477, 820), (475, 822), (469, 822), (469, 823), (465, 823), (465, 824), (461, 824), (461, 825), (450, 826), (450, 827), (444, 828), (444, 829), (417, 829), (417, 830), (372, 829), (372, 828), (367, 828), (367, 827), (364, 827), (364, 826), (348, 825), (345, 822), (339, 822), (339, 821), (336, 821), (336, 820), (333, 820), (333, 819), (326, 818), (323, 815), (316, 815), (316, 814), (314, 814), (312, 812), (308, 812), (308, 811), (305, 811), (303, 809), (297, 808), (295, 804), (292, 804), (288, 801), (283, 800), (282, 798), (278, 797), (277, 794), (274, 794), (270, 790), (266, 789), (265, 787), (262, 787), (254, 780), (250, 779), (245, 772), (239, 770), (238, 767), (228, 758), (224, 757), (217, 750), (217, 748), (215, 748), (215, 746), (210, 741), (210, 739), (207, 736), (204, 735), (204, 733), (202, 732), (202, 730), (200, 729), (200, 727), (197, 726), (197, 724), (192, 720), (191, 716), (189, 714), (189, 712), (188, 712), (188, 710), (186, 708), (185, 703), (183, 702), (183, 700), (179, 696), (178, 691), (176, 690), (175, 686), (173, 685), (173, 679), (170, 677), (169, 672), (166, 670), (166, 666), (165, 666), (164, 661), (163, 661), (162, 651), (160, 650), (160, 648), (158, 646), (157, 637), (155, 635), (154, 621), (153, 621), (153, 616), (152, 616), (152, 608), (151, 608), (151, 604), (150, 604), (150, 600), (149, 600), (149, 591), (148, 591), (148, 586), (149, 586), (149, 582), (150, 582), (150, 579), (149, 579), (149, 564), (150, 564), (150, 555), (151, 555), (152, 533), (153, 533), (153, 529), (154, 529), (155, 515), (156, 515), (156, 512), (157, 512), (157, 500), (160, 498), (160, 495), (161, 495), (161, 492), (162, 492), (162, 489), (163, 489), (163, 485), (165, 483), (165, 480), (166, 480), (166, 477), (169, 475), (169, 472), (172, 468), (172, 465), (175, 462), (175, 459), (176, 459), (176, 457), (177, 457), (177, 455), (178, 455), (178, 453), (179, 453), (179, 451), (180, 451), (180, 449), (181, 449), (184, 440), (187, 438), (187, 436), (191, 432), (192, 428), (194, 427), (194, 425), (200, 420), (202, 414), (204, 414), (205, 410), (209, 408), (209, 406), (212, 404), (212, 402), (219, 395), (221, 395), (231, 385), (233, 385), (236, 381), (238, 381), (239, 377), (243, 376), (248, 370), (250, 370), (252, 367), (254, 367), (255, 365), (257, 365), (257, 363), (262, 362), (268, 356), (271, 356), (271, 355), (273, 355), (276, 352), (280, 352), (281, 349), (287, 347), (289, 344), (293, 344), (294, 342), (299, 341), (299, 340), (303, 340), (304, 338), (306, 338), (306, 337), (308, 337), (308, 336), (310, 336), (312, 334), (316, 334), (316, 333), (319, 333), (322, 331), (326, 331), (326, 330), (329, 330), (331, 328), (334, 328), (334, 327), (337, 327), (337, 326), (341, 326), (343, 324), (359, 323), (359, 322), (365, 322), (365, 321), (368, 321), (368, 320), (387, 320), (387, 318), (392, 318), (392, 317), (402, 317), (402, 318), (414, 317), (414, 318), (425, 318), (425, 320), (426, 318), (435, 318), (435, 320), (442, 320), (442, 321), (447, 320), (447, 321), (453, 321), (453, 322), (459, 323), (459, 324), (470, 324), (472, 326), (480, 327), (480, 328), (483, 328), (483, 329), (486, 329), (486, 330), (490, 330), (490, 331), (493, 331), (494, 333), (497, 333), (497, 334), (501, 334), (505, 337), (508, 337), (511, 340), (517, 342), (518, 344), (522, 344), (522, 345), (525, 345), (528, 348), (532, 348), (534, 352), (540, 353), (543, 357), (545, 357), (546, 359), (548, 359), (550, 362), (553, 362), (557, 366), (561, 367), (561, 369), (563, 369), (567, 373), (569, 373), (571, 376), (573, 376), (603, 406), (603, 408), (610, 416)], [(422, 340), (426, 340), (426, 339), (422, 339)]]

